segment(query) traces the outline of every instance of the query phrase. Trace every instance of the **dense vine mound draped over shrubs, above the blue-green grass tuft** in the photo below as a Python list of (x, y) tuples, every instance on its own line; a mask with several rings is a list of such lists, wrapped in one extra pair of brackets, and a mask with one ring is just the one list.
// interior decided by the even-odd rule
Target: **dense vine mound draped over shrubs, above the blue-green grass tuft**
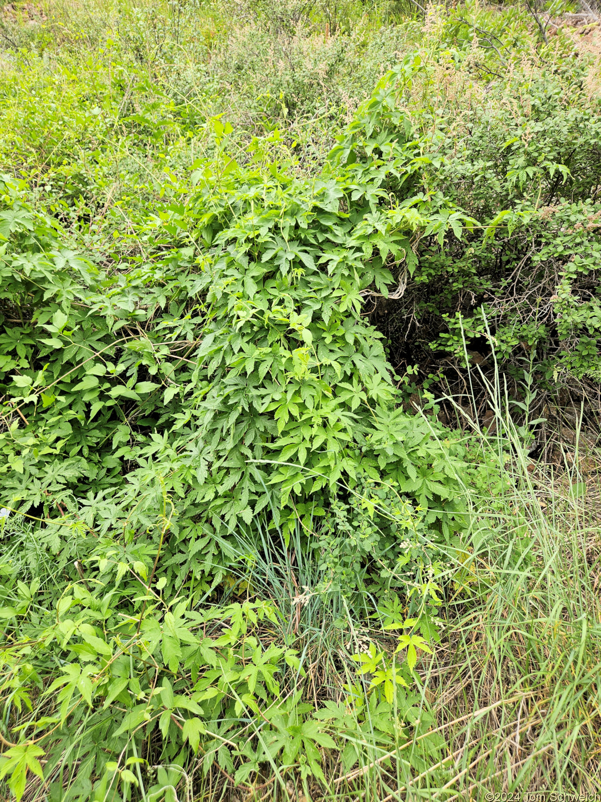
[[(48, 515), (83, 504), (89, 529), (123, 526), (131, 540), (159, 531), (166, 492), (171, 581), (191, 569), (219, 581), (229, 533), (265, 508), (269, 485), (276, 525), (280, 509), (293, 526), (297, 504), (323, 508), (375, 480), (390, 495), (370, 514), (388, 537), (399, 494), (426, 512), (430, 537), (461, 529), (466, 448), (434, 437), (434, 421), (393, 411), (381, 335), (361, 317), (365, 293), (388, 294), (389, 265), (413, 270), (411, 237), (442, 242), (470, 225), (442, 196), (412, 194), (418, 144), (393, 96), (419, 63), (387, 75), (341, 136), (332, 164), (349, 166), (296, 180), (222, 154), (181, 202), (140, 223), (151, 261), (119, 272), (61, 249), (56, 218), (5, 180), (13, 317), (0, 436), (11, 506)], [(392, 565), (393, 541), (384, 551)]]

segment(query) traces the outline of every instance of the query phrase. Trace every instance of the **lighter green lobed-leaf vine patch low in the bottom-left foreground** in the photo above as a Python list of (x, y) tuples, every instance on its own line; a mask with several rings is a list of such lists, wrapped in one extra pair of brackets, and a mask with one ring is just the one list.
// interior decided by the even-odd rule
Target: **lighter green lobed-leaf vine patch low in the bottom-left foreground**
[[(63, 798), (60, 778), (75, 764), (69, 798), (131, 798), (134, 788), (143, 790), (140, 769), (146, 776), (149, 759), (182, 766), (194, 755), (203, 776), (216, 764), (242, 787), (274, 761), (282, 772), (296, 766), (303, 782), (312, 776), (325, 783), (321, 750), (338, 749), (341, 738), (344, 745), (348, 723), (342, 730), (322, 723), (312, 704), (301, 703), (310, 665), (285, 636), (281, 646), (272, 639), (274, 628), (288, 626), (276, 602), (256, 596), (199, 609), (191, 597), (165, 597), (164, 575), (146, 578), (152, 555), (142, 546), (126, 555), (110, 538), (80, 542), (79, 553), (87, 547), (81, 578), (67, 581), (68, 545), (50, 564), (32, 567), (34, 533), (10, 517), (6, 527), (14, 550), (2, 561), (10, 638), (2, 695), (5, 714), (19, 711), (21, 723), (5, 730), (18, 743), (5, 751), (0, 772), (17, 799), (27, 772), (50, 784), (51, 799)], [(68, 537), (78, 537), (74, 525)], [(132, 557), (137, 561), (126, 562)], [(407, 665), (409, 672), (415, 665), (409, 653)], [(389, 690), (385, 696), (397, 704)], [(381, 704), (378, 710), (384, 715)], [(424, 731), (428, 726), (422, 722)], [(378, 736), (382, 744), (408, 737), (403, 727), (384, 727)], [(41, 755), (52, 767), (45, 775)], [(350, 767), (357, 755), (345, 760)], [(167, 784), (161, 771), (159, 784)], [(176, 773), (173, 784), (181, 779)]]

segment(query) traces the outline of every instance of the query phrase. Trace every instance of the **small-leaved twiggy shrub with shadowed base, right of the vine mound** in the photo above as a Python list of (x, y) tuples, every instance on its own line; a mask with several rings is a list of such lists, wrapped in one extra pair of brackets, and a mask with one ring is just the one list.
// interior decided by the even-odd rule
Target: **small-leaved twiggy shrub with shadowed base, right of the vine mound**
[[(597, 380), (601, 128), (588, 83), (593, 67), (571, 61), (571, 43), (560, 41), (555, 68), (512, 69), (484, 89), (458, 22), (441, 22), (440, 33), (449, 49), (429, 52), (417, 71), (399, 75), (397, 94), (422, 132), (428, 191), (479, 225), (446, 237), (443, 247), (427, 231), (420, 236), (413, 281), (386, 307), (385, 331), (393, 338), (394, 327), (413, 315), (419, 325), (414, 334), (412, 322), (405, 326), (402, 343), (411, 344), (413, 358), (434, 351), (466, 367), (466, 346), (485, 355), (494, 346), (515, 379), (533, 354), (537, 383), (547, 391), (560, 377)], [(510, 35), (488, 35), (504, 48), (493, 54), (496, 67), (488, 63), (494, 75), (516, 57), (516, 44)], [(441, 363), (447, 382), (454, 370)]]

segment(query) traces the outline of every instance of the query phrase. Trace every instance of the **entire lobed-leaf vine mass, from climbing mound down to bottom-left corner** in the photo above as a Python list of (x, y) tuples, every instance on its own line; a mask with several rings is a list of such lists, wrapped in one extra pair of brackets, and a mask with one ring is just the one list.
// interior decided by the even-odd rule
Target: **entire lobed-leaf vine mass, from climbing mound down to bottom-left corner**
[[(398, 181), (401, 204), (381, 190), (417, 171), (409, 144), (388, 165), (371, 156), (389, 83), (341, 137), (338, 166), (311, 179), (238, 164), (232, 126), (212, 119), (212, 156), (190, 180), (161, 187), (150, 213), (127, 201), (135, 247), (124, 237), (107, 249), (114, 221), (81, 237), (92, 207), (83, 192), (73, 204), (59, 161), (52, 196), (3, 177), (2, 610), (16, 645), (2, 691), (17, 743), (2, 776), (15, 796), (39, 774), (40, 742), (57, 799), (65, 776), (74, 798), (144, 796), (145, 761), (183, 767), (195, 755), (202, 776), (217, 766), (243, 787), (276, 765), (305, 788), (326, 782), (322, 751), (342, 736), (300, 702), (298, 624), (284, 628), (272, 593), (206, 601), (240, 573), (240, 530), (252, 565), (280, 526), (288, 559), (294, 537), (296, 561), (317, 568), (307, 602), (320, 599), (330, 622), (365, 607), (368, 587), (397, 589), (436, 637), (434, 577), (466, 525), (465, 482), (486, 481), (494, 464), (466, 462), (458, 435), (395, 409), (381, 335), (361, 316), (365, 293), (388, 293), (389, 265), (413, 265), (417, 230), (442, 237), (463, 220), (410, 196), (410, 182), (405, 192)], [(113, 115), (138, 147), (148, 119), (123, 119), (122, 104), (117, 87), (98, 135)], [(341, 160), (341, 148), (361, 160)], [(102, 149), (95, 160), (107, 168)], [(19, 529), (17, 509), (35, 533)], [(386, 688), (380, 704), (396, 704)], [(16, 728), (14, 709), (29, 715)], [(378, 739), (408, 736), (399, 725)], [(351, 766), (363, 755), (353, 748)], [(157, 794), (170, 779), (161, 771)]]

